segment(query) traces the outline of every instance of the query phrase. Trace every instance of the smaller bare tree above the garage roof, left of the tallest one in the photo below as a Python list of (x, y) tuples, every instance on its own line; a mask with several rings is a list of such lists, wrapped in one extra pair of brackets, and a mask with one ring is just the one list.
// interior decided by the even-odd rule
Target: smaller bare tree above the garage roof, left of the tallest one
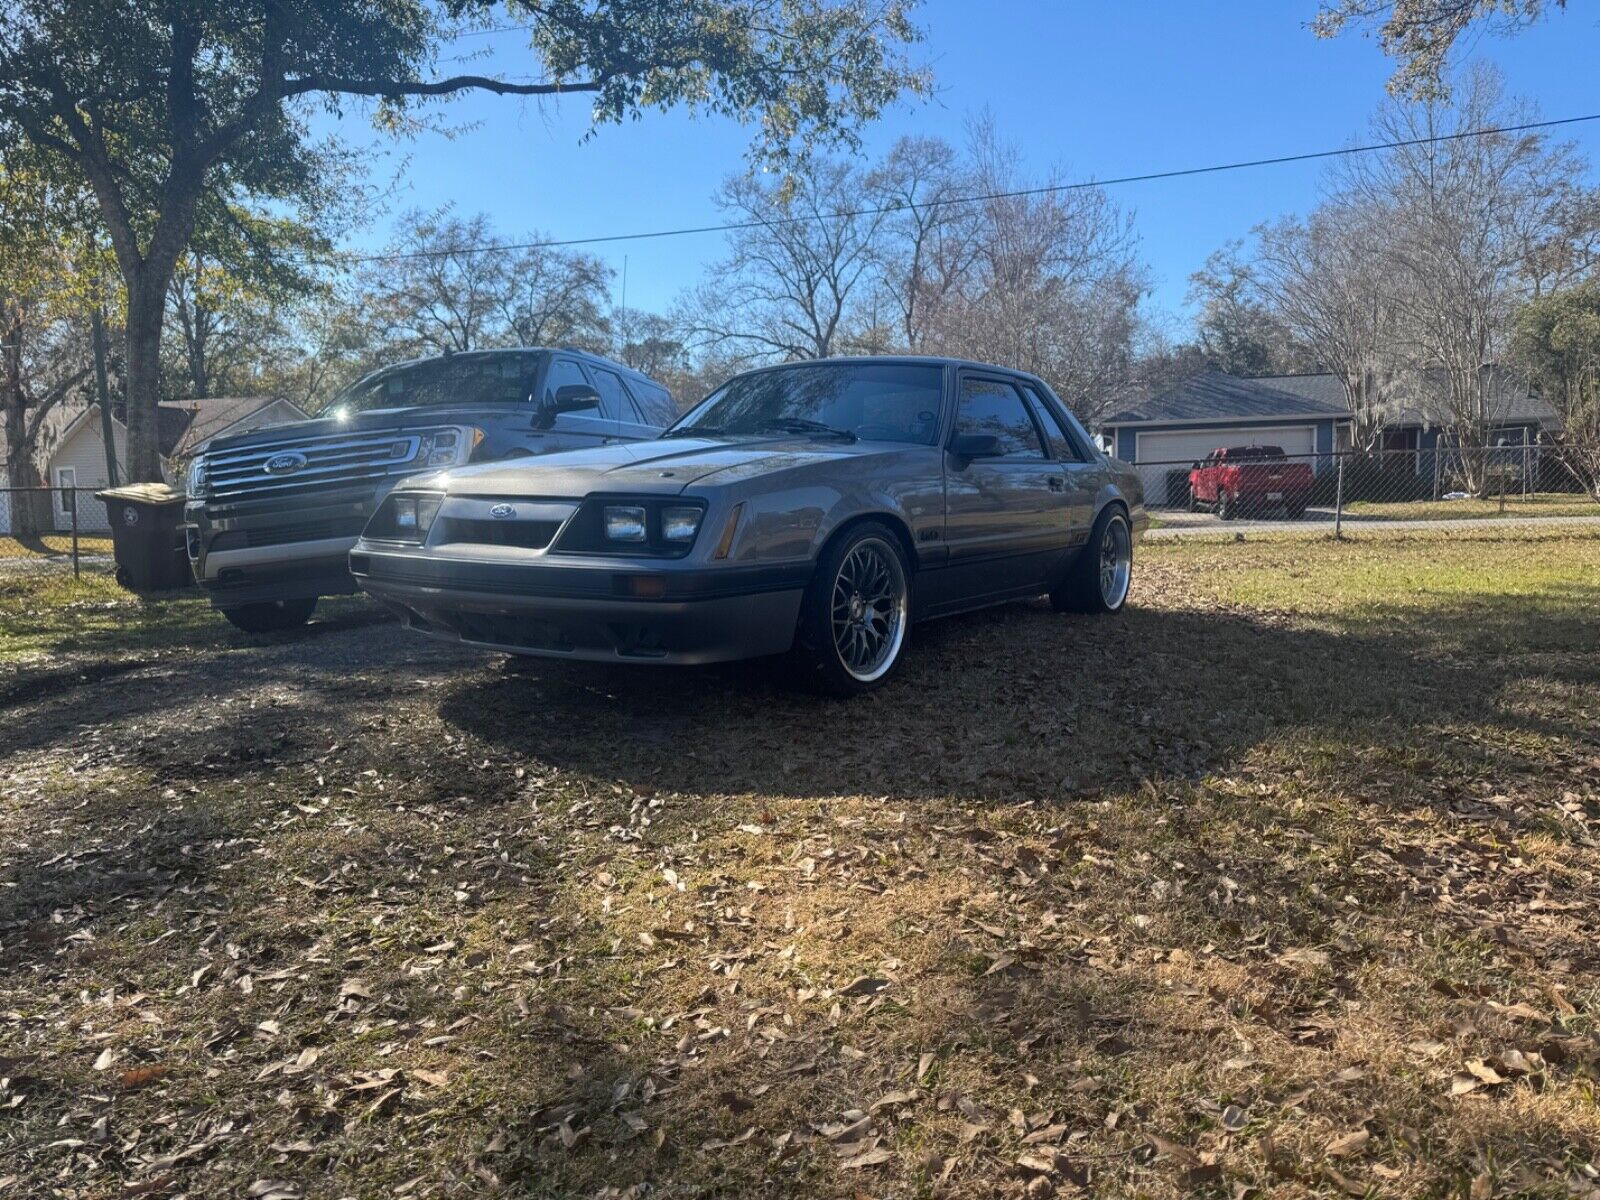
[(1261, 294), (1277, 320), (1344, 384), (1358, 450), (1378, 445), (1398, 376), (1382, 234), (1382, 210), (1339, 198), (1306, 222), (1285, 219), (1256, 230)]

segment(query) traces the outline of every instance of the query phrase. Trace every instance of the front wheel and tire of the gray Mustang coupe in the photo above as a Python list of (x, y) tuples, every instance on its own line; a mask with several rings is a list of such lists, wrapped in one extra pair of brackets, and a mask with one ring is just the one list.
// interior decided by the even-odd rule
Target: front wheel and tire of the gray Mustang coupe
[(802, 675), (829, 696), (861, 696), (888, 683), (910, 637), (910, 568), (886, 525), (864, 522), (818, 560), (800, 605), (795, 653)]

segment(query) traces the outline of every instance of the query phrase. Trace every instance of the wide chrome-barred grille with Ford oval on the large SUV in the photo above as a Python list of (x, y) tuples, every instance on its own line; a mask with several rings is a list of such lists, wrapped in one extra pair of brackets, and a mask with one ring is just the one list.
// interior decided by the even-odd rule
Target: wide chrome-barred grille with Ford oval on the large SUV
[[(290, 498), (323, 488), (373, 483), (389, 475), (414, 474), (421, 435), (410, 434), (331, 434), (326, 437), (272, 442), (261, 446), (219, 450), (205, 456), (206, 499), (234, 502), (262, 498)], [(299, 458), (301, 464), (277, 474), (274, 461)]]

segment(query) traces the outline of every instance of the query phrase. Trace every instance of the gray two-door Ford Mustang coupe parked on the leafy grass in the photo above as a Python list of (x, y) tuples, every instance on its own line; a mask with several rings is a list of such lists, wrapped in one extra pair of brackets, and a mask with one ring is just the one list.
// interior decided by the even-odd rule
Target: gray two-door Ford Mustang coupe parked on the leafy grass
[(869, 691), (912, 621), (1050, 594), (1115, 613), (1138, 475), (1030, 374), (827, 358), (730, 379), (664, 435), (405, 480), (350, 552), (406, 626), (512, 654), (795, 651)]

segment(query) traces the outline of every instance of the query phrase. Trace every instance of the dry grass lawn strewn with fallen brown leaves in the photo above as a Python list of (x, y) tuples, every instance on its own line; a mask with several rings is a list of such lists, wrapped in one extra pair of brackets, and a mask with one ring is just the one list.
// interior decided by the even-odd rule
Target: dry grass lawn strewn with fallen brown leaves
[(0, 1200), (1600, 1195), (1600, 539), (1136, 574), (853, 704), (13, 595)]

